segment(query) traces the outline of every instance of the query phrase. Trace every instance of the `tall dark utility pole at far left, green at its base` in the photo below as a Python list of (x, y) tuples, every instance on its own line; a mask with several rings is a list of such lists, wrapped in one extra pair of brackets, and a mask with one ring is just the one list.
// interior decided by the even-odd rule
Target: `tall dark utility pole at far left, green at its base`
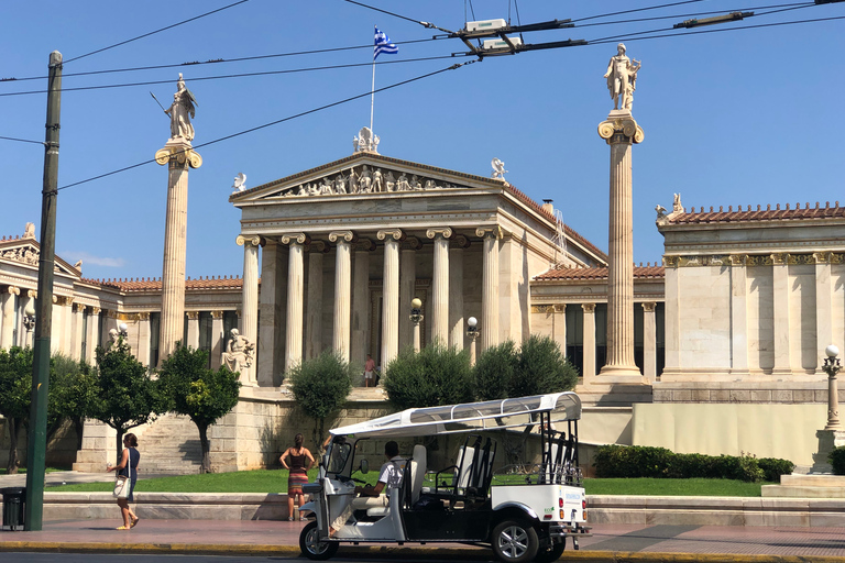
[(30, 438), (26, 446), (26, 508), (23, 529), (40, 531), (44, 516), (44, 473), (47, 450), (47, 393), (50, 338), (53, 332), (53, 268), (56, 253), (56, 199), (58, 195), (58, 129), (62, 113), (62, 53), (50, 54), (44, 184), (41, 191), (41, 253), (35, 338), (32, 362)]

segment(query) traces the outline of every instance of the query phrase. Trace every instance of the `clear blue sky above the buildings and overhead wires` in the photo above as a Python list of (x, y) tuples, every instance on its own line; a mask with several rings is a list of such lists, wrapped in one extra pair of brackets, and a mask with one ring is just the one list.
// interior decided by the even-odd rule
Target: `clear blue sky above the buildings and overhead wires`
[[(65, 60), (232, 3), (3, 2), (0, 77), (46, 74), (50, 52)], [(372, 0), (373, 5), (450, 30), (464, 24), (463, 0)], [(523, 23), (646, 8), (666, 0), (523, 1)], [(634, 117), (645, 142), (634, 147), (635, 261), (662, 254), (654, 208), (845, 203), (838, 133), (845, 97), (845, 20), (637, 41), (634, 33), (671, 27), (704, 11), (754, 10), (777, 2), (710, 0), (581, 20), (574, 29), (526, 34), (527, 43), (566, 38), (610, 43), (489, 58), (376, 95), (374, 130), (386, 156), (487, 176), (503, 159), (506, 178), (540, 201), (555, 200), (564, 221), (607, 247), (608, 147), (596, 125), (613, 108), (602, 78), (621, 37), (643, 62)], [(787, 3), (783, 1), (782, 3)], [(508, 18), (507, 0), (475, 0), (478, 20)], [(677, 15), (656, 21), (633, 19)], [(810, 7), (710, 31), (784, 21), (842, 18), (845, 3)], [(472, 15), (469, 16), (472, 20)], [(199, 106), (195, 146), (266, 122), (367, 92), (371, 68), (315, 70), (198, 80), (206, 76), (362, 63), (370, 48), (320, 55), (194, 65), (134, 73), (68, 76), (102, 69), (231, 59), (328, 47), (369, 45), (373, 24), (399, 43), (396, 62), (464, 52), (458, 40), (403, 45), (435, 32), (410, 21), (341, 0), (251, 0), (64, 67), (65, 88), (164, 80), (166, 84), (66, 91), (62, 99), (59, 186), (152, 159), (168, 137), (168, 120), (150, 96), (168, 104), (178, 73)], [(681, 30), (682, 32), (682, 30)], [(674, 32), (679, 34), (679, 32)], [(459, 60), (384, 65), (376, 87), (445, 68)], [(46, 80), (2, 81), (0, 95), (43, 90)], [(0, 96), (0, 136), (44, 140), (46, 95)], [(198, 148), (204, 165), (190, 172), (189, 276), (240, 275), (234, 239), (239, 213), (228, 202), (232, 178), (271, 181), (348, 156), (352, 136), (370, 121), (369, 97)], [(40, 231), (43, 147), (0, 140), (0, 234)], [(65, 189), (58, 196), (57, 253), (84, 260), (91, 278), (157, 277), (162, 273), (167, 170), (149, 164)], [(36, 232), (37, 232), (36, 231)]]

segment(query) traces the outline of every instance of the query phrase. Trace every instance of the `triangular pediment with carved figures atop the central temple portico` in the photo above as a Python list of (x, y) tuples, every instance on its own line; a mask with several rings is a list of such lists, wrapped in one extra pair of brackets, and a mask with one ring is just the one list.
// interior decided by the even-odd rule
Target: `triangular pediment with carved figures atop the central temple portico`
[(373, 152), (355, 153), (316, 168), (232, 194), (230, 201), (245, 203), (288, 198), (386, 196), (403, 192), (502, 188), (504, 181), (463, 174)]

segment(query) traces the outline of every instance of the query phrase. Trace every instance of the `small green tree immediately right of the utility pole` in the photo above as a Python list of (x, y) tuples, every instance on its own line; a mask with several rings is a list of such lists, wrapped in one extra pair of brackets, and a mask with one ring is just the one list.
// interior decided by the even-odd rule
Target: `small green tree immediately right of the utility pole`
[[(91, 416), (97, 399), (97, 376), (85, 360), (73, 360), (62, 354), (53, 356), (50, 394), (55, 402), (58, 426), (70, 420), (76, 431), (76, 449), (83, 448), (85, 419)], [(47, 431), (50, 434), (50, 431)]]

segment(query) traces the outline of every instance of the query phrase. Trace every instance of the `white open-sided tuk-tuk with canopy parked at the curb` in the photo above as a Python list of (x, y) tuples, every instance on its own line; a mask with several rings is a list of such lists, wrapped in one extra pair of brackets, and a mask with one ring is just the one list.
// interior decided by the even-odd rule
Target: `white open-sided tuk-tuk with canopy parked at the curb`
[[(451, 542), (490, 547), (507, 563), (557, 560), (571, 537), (588, 536), (586, 495), (578, 468), (578, 420), (581, 400), (574, 393), (408, 409), (386, 417), (336, 428), (315, 483), (303, 506), (314, 519), (303, 529), (299, 547), (311, 560), (334, 555), (342, 542)], [(493, 475), (495, 432), (523, 430), (539, 434), (541, 461)], [(356, 511), (329, 537), (330, 523), (355, 496), (352, 472), (367, 472), (355, 459), (363, 440), (436, 437), (463, 433), (454, 463), (430, 467), (425, 445), (414, 446), (404, 464), (400, 485), (389, 488), (386, 507)], [(426, 474), (428, 479), (426, 479)], [(429, 486), (424, 486), (428, 481)], [(503, 484), (496, 482), (502, 481)]]

